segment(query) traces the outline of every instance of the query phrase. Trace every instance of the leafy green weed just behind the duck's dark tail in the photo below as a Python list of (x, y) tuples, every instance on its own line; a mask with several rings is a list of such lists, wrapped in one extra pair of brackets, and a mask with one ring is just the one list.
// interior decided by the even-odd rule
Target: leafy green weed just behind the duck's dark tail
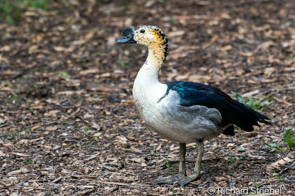
[(259, 99), (255, 99), (252, 97), (252, 95), (250, 95), (248, 97), (248, 99), (245, 99), (242, 95), (240, 95), (239, 93), (236, 93), (236, 92), (233, 92), (231, 91), (232, 94), (235, 95), (235, 97), (237, 98), (237, 100), (239, 102), (241, 102), (242, 104), (245, 104), (246, 106), (258, 111), (258, 112), (261, 112), (263, 110), (262, 106), (264, 105), (269, 105), (269, 101), (273, 100), (274, 98), (273, 97), (268, 97), (266, 99), (266, 101), (263, 101), (261, 102), (262, 100), (262, 97), (260, 97)]

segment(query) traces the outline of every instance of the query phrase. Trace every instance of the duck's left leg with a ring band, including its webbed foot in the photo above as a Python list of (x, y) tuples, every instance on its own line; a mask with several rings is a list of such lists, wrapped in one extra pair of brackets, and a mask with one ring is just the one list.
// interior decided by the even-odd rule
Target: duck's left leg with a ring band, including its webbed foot
[(176, 182), (182, 179), (186, 173), (185, 168), (185, 153), (186, 153), (186, 144), (179, 143), (179, 153), (180, 153), (180, 162), (179, 162), (179, 171), (178, 174), (172, 176), (166, 176), (157, 178), (155, 181), (158, 183), (171, 183)]

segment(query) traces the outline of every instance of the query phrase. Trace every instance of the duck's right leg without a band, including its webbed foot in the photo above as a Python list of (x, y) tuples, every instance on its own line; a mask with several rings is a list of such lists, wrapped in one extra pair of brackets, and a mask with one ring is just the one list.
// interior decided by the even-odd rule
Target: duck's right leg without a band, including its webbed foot
[(177, 180), (176, 183), (179, 184), (180, 187), (183, 187), (183, 185), (186, 185), (187, 183), (195, 180), (196, 178), (198, 178), (200, 176), (203, 150), (204, 150), (203, 140), (198, 141), (197, 158), (196, 158), (196, 165), (194, 168), (194, 173), (190, 176), (182, 177), (181, 180)]

